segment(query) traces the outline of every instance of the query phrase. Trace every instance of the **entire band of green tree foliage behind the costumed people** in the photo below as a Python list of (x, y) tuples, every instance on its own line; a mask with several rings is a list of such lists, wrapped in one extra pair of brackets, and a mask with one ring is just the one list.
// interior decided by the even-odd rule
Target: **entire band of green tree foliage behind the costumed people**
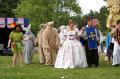
[(83, 16), (81, 13), (77, 0), (0, 0), (0, 17), (29, 18), (34, 31), (39, 30), (38, 25), (41, 23), (55, 21), (56, 27), (59, 27), (67, 25), (69, 19), (83, 27), (86, 18), (92, 16), (100, 21), (99, 29), (106, 32), (106, 19), (109, 14), (106, 6), (101, 7), (99, 12), (91, 10)]

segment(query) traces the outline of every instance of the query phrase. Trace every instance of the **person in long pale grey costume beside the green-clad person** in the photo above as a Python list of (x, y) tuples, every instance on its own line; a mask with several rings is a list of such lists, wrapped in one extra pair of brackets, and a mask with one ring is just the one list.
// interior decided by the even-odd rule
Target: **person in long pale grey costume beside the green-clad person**
[(24, 39), (23, 39), (23, 57), (25, 64), (31, 64), (33, 51), (35, 48), (35, 35), (31, 32), (30, 28), (25, 30)]

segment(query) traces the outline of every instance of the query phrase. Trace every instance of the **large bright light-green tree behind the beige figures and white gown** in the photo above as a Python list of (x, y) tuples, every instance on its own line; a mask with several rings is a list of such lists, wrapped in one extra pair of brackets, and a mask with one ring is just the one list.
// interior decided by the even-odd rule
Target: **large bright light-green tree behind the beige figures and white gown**
[(36, 30), (48, 21), (55, 21), (57, 27), (66, 24), (71, 14), (81, 14), (81, 8), (76, 0), (22, 0), (15, 14), (29, 18)]

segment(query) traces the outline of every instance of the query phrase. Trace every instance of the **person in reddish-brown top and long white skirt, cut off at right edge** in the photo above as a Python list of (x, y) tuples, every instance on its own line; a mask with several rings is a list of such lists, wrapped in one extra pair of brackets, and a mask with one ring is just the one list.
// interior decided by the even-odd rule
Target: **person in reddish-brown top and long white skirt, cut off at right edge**
[(113, 66), (118, 66), (120, 64), (120, 19), (117, 21), (116, 28), (111, 32), (111, 34), (115, 34), (116, 38), (114, 41), (114, 49), (113, 49)]

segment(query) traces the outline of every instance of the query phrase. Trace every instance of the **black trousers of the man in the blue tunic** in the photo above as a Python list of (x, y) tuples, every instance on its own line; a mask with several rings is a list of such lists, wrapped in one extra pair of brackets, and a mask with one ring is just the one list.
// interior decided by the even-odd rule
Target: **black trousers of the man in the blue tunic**
[(94, 64), (95, 66), (99, 65), (99, 54), (98, 49), (89, 49), (87, 41), (85, 41), (85, 52), (86, 52), (86, 58), (88, 66), (90, 67), (91, 64)]

